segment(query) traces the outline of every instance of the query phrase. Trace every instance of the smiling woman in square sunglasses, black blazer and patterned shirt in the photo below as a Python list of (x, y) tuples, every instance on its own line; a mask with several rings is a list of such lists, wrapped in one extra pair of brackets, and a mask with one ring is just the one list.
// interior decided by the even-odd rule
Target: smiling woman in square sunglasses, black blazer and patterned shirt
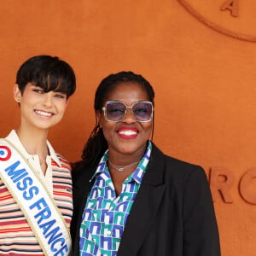
[(73, 165), (73, 255), (218, 256), (207, 177), (152, 141), (154, 90), (110, 74), (96, 90), (96, 126)]

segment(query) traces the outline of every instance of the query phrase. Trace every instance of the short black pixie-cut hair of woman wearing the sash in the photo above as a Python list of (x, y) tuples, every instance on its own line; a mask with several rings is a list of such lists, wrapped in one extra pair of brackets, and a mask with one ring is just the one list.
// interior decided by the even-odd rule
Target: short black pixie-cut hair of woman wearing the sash
[(76, 90), (76, 78), (73, 68), (58, 57), (50, 55), (37, 55), (25, 61), (19, 68), (16, 75), (21, 94), (26, 84), (32, 83), (44, 89), (59, 91), (72, 96)]

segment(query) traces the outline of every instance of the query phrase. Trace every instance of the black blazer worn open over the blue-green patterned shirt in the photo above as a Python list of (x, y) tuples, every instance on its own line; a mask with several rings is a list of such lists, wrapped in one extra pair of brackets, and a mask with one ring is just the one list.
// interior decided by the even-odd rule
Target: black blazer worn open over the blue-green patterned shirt
[[(96, 166), (73, 172), (73, 255)], [(148, 168), (125, 224), (118, 256), (219, 256), (218, 226), (200, 166), (162, 154), (153, 144)]]

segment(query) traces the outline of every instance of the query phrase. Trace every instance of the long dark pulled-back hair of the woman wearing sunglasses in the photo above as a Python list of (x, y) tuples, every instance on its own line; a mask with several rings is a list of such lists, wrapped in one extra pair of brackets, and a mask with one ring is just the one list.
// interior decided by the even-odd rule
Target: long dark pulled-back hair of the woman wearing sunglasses
[[(148, 94), (148, 101), (152, 102), (154, 105), (154, 89), (149, 82), (143, 78), (142, 75), (132, 73), (131, 71), (113, 73), (108, 75), (96, 89), (94, 109), (95, 112), (102, 111), (102, 107), (108, 93), (115, 89), (116, 86), (120, 83), (133, 82), (140, 84)], [(154, 117), (153, 117), (153, 130), (152, 137), (154, 133)], [(82, 160), (73, 164), (73, 170), (79, 169), (84, 165), (96, 165), (99, 160), (102, 158), (102, 154), (107, 150), (108, 143), (103, 135), (102, 127), (99, 125), (98, 120), (96, 119), (96, 125), (90, 133), (90, 137), (87, 143), (84, 146), (82, 153)]]

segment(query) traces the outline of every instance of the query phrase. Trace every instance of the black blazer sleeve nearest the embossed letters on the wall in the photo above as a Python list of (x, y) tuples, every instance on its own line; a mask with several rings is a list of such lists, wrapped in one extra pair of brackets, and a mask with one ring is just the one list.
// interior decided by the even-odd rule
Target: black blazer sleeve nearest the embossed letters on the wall
[(218, 226), (206, 173), (196, 166), (183, 196), (183, 255), (219, 256)]

